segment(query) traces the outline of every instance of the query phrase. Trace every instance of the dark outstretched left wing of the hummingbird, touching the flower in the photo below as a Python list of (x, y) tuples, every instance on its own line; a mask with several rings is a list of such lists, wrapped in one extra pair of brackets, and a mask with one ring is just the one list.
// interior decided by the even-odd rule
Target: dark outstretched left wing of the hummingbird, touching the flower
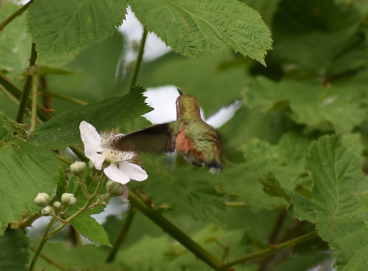
[(175, 138), (173, 138), (170, 123), (162, 123), (127, 134), (117, 141), (116, 147), (121, 151), (173, 152)]

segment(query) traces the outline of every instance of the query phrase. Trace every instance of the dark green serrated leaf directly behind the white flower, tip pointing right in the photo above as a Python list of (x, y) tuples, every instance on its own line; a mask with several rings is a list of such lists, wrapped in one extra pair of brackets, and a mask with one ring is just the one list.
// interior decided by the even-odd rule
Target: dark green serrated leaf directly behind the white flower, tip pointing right
[(82, 120), (91, 123), (99, 131), (123, 126), (126, 122), (151, 111), (144, 102), (144, 91), (142, 87), (135, 87), (124, 96), (92, 102), (57, 115), (39, 126), (31, 134), (29, 141), (53, 149), (82, 144), (79, 133), (79, 123)]

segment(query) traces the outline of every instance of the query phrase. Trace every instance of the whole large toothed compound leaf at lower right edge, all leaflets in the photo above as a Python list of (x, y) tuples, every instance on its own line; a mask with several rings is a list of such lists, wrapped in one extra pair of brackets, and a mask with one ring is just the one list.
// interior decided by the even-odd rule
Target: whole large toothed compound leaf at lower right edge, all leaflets
[(305, 166), (314, 186), (312, 199), (289, 191), (293, 216), (317, 224), (322, 239), (335, 250), (339, 270), (362, 270), (367, 264), (367, 178), (359, 159), (337, 136), (324, 136), (311, 145)]

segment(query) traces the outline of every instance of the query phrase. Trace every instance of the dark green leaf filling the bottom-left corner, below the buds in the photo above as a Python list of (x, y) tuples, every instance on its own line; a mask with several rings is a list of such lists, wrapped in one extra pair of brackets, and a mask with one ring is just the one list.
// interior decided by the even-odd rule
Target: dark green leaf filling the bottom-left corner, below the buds
[(28, 263), (28, 237), (18, 230), (7, 230), (0, 236), (0, 266), (2, 270), (26, 270)]

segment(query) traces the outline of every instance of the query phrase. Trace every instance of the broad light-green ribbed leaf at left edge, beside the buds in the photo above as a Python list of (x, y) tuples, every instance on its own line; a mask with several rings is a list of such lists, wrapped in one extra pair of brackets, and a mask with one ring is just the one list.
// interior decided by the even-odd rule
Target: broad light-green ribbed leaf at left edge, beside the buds
[(37, 213), (33, 200), (40, 192), (54, 193), (59, 160), (49, 149), (24, 141), (11, 141), (0, 147), (0, 234), (21, 214)]

